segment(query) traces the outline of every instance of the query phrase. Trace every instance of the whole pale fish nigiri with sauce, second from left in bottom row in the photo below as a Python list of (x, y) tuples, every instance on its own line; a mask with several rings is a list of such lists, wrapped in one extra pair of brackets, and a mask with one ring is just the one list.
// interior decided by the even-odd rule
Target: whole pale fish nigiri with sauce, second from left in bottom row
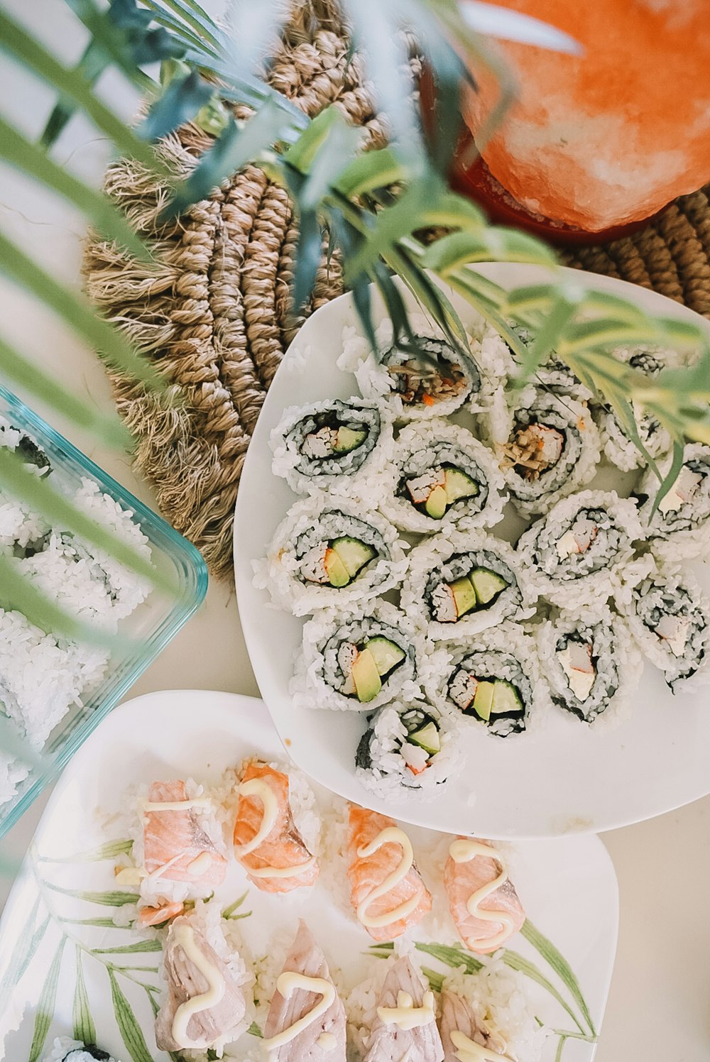
[(345, 1009), (303, 921), (276, 978), (261, 1047), (271, 1062), (345, 1062)]

